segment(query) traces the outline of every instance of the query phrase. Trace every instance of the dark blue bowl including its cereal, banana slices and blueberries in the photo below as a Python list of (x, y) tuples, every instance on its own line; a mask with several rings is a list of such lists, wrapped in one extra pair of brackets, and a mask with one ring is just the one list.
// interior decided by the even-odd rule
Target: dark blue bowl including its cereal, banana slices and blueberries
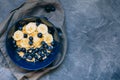
[(11, 25), (6, 35), (10, 59), (26, 70), (49, 66), (60, 50), (56, 27), (45, 17), (27, 17)]

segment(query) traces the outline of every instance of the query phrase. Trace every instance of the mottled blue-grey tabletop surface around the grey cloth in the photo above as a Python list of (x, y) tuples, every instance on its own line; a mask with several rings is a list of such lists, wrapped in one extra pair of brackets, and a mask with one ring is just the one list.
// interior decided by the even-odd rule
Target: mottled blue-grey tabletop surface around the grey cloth
[[(24, 0), (0, 0), (0, 22)], [(68, 52), (63, 64), (40, 80), (120, 80), (120, 0), (60, 0)], [(0, 68), (0, 80), (14, 80)]]

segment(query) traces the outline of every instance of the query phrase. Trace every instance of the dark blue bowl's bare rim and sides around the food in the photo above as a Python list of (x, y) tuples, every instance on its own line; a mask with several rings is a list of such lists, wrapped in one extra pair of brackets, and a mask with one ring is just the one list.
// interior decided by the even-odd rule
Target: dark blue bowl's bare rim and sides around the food
[[(38, 61), (35, 63), (27, 62), (26, 60), (20, 58), (19, 55), (17, 54), (17, 52), (15, 51), (15, 47), (12, 43), (12, 41), (13, 41), (12, 35), (17, 30), (19, 25), (22, 26), (24, 24), (27, 24), (28, 22), (35, 22), (39, 19), (41, 20), (42, 23), (44, 23), (48, 26), (48, 29), (52, 30), (51, 32), (56, 41), (56, 45), (55, 45), (55, 48), (53, 49), (51, 55), (48, 56), (47, 59), (45, 59), (44, 61), (41, 61), (41, 62)], [(7, 53), (9, 55), (9, 57), (16, 65), (18, 65), (19, 67), (24, 68), (26, 70), (39, 70), (39, 69), (47, 67), (56, 59), (56, 57), (59, 53), (59, 48), (60, 48), (60, 44), (59, 44), (59, 37), (58, 37), (57, 31), (56, 31), (54, 25), (51, 24), (48, 20), (46, 20), (46, 18), (44, 18), (44, 17), (41, 17), (41, 18), (30, 17), (30, 18), (24, 18), (24, 19), (18, 20), (14, 25), (12, 25), (12, 27), (9, 29), (7, 36), (6, 36), (6, 49), (7, 49)]]

